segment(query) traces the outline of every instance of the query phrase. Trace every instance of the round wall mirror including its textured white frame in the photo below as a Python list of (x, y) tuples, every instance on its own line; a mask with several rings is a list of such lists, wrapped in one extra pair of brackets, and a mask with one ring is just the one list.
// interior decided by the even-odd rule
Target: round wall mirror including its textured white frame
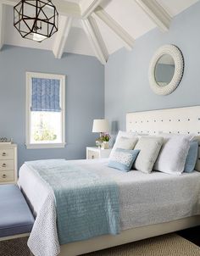
[(153, 92), (167, 95), (179, 85), (184, 68), (182, 53), (174, 45), (158, 48), (149, 67), (149, 82)]

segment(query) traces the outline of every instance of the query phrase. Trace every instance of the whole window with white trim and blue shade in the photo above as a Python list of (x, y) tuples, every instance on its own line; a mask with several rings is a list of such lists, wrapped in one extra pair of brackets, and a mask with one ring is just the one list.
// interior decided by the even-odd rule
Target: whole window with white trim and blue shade
[(26, 147), (65, 145), (65, 76), (26, 73)]

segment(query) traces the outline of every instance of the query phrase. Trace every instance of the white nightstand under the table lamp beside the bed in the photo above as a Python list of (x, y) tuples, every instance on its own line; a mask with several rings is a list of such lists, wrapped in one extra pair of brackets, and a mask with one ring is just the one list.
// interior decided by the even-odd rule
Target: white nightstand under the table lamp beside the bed
[(86, 159), (108, 158), (112, 148), (101, 149), (99, 147), (86, 147)]

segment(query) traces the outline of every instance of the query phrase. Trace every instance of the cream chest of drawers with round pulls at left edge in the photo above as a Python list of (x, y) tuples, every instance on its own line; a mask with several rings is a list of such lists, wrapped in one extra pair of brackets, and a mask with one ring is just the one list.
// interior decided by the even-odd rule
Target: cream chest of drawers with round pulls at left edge
[(0, 184), (17, 182), (17, 145), (0, 143)]

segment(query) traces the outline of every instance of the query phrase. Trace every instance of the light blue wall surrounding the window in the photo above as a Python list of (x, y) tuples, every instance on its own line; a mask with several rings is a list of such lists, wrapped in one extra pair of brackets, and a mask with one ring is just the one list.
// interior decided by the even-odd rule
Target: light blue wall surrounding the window
[[(26, 149), (25, 72), (66, 77), (66, 142), (64, 149)], [(19, 166), (33, 159), (83, 159), (94, 144), (92, 120), (104, 116), (104, 68), (97, 58), (65, 54), (56, 59), (49, 51), (3, 47), (0, 52), (0, 136), (14, 138)]]

